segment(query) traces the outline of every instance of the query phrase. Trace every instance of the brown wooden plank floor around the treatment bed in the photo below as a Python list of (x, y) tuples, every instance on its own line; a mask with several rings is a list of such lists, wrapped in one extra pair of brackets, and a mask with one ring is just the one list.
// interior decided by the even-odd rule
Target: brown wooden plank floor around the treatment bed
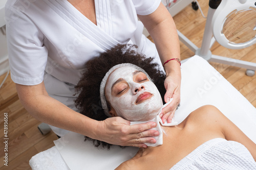
[[(207, 15), (208, 1), (199, 1), (203, 12)], [(200, 11), (194, 11), (190, 6), (174, 17), (177, 29), (187, 36), (197, 46), (201, 46), (206, 19), (201, 16)], [(181, 45), (181, 59), (194, 56), (184, 44)], [(212, 54), (256, 62), (256, 45), (243, 50), (229, 50), (215, 43), (211, 48)], [(211, 63), (221, 74), (236, 87), (246, 99), (256, 107), (256, 76), (248, 77), (245, 69)], [(0, 77), (0, 82), (5, 75)], [(53, 140), (57, 136), (51, 132), (46, 136), (40, 134), (37, 126), (40, 122), (28, 114), (20, 104), (15, 85), (10, 76), (0, 89), (0, 169), (31, 169), (30, 158), (51, 148)], [(4, 113), (8, 113), (8, 167), (4, 165)]]

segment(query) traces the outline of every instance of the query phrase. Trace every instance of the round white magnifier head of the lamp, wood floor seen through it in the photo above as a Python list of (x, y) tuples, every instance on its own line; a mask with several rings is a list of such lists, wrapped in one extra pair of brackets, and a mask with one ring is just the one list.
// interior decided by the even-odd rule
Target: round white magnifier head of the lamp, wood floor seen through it
[(256, 43), (256, 0), (222, 0), (211, 25), (215, 39), (226, 48)]

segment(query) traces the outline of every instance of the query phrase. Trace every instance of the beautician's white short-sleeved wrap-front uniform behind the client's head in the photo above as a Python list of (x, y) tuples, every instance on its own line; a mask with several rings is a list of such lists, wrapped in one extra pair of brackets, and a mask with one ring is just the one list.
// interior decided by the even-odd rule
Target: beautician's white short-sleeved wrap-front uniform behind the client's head
[[(9, 0), (5, 11), (12, 80), (22, 85), (44, 81), (52, 98), (77, 111), (74, 86), (83, 64), (100, 52), (118, 43), (134, 43), (139, 52), (161, 63), (137, 19), (137, 14), (154, 12), (160, 2), (95, 1), (96, 26), (66, 0)], [(59, 136), (68, 132), (51, 128)]]

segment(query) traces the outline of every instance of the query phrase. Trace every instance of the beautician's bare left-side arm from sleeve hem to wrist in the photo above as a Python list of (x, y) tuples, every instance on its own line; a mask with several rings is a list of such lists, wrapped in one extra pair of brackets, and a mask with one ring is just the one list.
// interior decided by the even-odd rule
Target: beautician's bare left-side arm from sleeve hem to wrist
[[(38, 85), (36, 85), (38, 87)], [(42, 86), (42, 85), (39, 85)], [(96, 120), (75, 112), (51, 98), (44, 87), (16, 85), (20, 102), (36, 119), (49, 125), (96, 137)]]

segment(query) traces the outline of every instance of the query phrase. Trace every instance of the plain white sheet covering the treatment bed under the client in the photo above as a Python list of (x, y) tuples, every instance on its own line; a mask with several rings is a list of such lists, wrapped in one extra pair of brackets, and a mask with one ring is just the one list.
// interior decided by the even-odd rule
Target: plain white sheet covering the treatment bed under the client
[[(180, 123), (193, 110), (214, 105), (256, 143), (256, 108), (207, 61), (194, 56), (181, 65), (181, 103), (175, 113)], [(80, 134), (69, 133), (55, 140), (55, 146), (30, 160), (32, 169), (114, 169), (132, 158), (137, 148), (99, 150), (84, 142)]]

